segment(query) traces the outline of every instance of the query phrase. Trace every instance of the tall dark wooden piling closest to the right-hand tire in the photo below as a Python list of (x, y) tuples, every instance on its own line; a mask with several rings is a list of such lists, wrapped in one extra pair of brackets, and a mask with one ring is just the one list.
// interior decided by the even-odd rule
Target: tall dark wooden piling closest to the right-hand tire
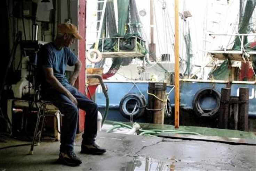
[(219, 106), (219, 124), (218, 127), (222, 129), (228, 128), (229, 122), (229, 104), (230, 104), (230, 88), (221, 89), (221, 104)]

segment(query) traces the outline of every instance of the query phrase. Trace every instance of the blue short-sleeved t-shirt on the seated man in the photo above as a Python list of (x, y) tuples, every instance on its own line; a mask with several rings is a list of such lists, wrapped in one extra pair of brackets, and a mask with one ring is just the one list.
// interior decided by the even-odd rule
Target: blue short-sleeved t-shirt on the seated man
[(54, 76), (64, 86), (68, 87), (69, 81), (66, 77), (65, 69), (66, 65), (73, 66), (77, 62), (75, 54), (67, 47), (63, 47), (61, 50), (55, 48), (53, 42), (43, 45), (38, 55), (38, 69), (39, 78), (41, 82), (41, 90), (53, 89), (53, 87), (46, 82), (45, 74), (42, 71), (42, 66), (47, 68), (53, 68)]

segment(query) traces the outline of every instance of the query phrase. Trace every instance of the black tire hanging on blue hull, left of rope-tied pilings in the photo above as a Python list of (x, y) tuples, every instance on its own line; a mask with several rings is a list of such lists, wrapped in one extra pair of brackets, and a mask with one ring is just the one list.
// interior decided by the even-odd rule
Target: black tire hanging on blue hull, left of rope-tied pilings
[(143, 95), (139, 95), (136, 93), (129, 93), (121, 99), (119, 104), (119, 111), (122, 114), (122, 116), (127, 119), (130, 119), (136, 103), (138, 104), (133, 113), (133, 119), (136, 120), (141, 118), (145, 113), (146, 100)]

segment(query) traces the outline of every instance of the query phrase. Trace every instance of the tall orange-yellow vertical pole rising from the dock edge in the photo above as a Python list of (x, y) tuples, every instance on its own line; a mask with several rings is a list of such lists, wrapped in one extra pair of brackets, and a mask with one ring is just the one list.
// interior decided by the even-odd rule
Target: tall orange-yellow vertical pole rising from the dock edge
[(179, 127), (179, 18), (178, 18), (178, 0), (174, 3), (174, 18), (175, 18), (175, 111), (174, 111), (174, 125), (175, 128)]

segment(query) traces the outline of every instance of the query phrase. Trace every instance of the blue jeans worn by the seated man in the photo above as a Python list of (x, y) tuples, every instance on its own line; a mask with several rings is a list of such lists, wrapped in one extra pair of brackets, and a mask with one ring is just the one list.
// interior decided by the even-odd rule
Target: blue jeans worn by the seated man
[(77, 106), (67, 96), (56, 90), (47, 91), (43, 95), (44, 100), (51, 101), (64, 115), (61, 128), (61, 151), (74, 149), (73, 142), (77, 132), (78, 108), (86, 112), (82, 144), (94, 143), (97, 135), (98, 105), (80, 93), (77, 88), (73, 86), (66, 88), (77, 99)]

